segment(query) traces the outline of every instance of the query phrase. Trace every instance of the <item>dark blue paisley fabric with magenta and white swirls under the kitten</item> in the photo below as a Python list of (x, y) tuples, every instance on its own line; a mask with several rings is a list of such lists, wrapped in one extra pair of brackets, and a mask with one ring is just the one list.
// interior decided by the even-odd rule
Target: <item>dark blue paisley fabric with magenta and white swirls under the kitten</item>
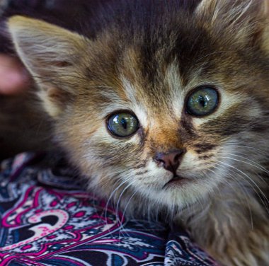
[(82, 190), (64, 161), (46, 160), (1, 163), (0, 265), (217, 265), (181, 229), (127, 219)]

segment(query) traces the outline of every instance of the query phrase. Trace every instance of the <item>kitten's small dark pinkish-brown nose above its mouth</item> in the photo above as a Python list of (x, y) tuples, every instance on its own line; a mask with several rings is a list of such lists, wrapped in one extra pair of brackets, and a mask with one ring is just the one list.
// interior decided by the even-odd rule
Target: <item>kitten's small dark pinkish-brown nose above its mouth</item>
[(184, 154), (184, 150), (173, 150), (168, 153), (160, 152), (154, 156), (156, 163), (164, 166), (164, 169), (176, 173), (178, 166), (181, 163), (181, 158)]

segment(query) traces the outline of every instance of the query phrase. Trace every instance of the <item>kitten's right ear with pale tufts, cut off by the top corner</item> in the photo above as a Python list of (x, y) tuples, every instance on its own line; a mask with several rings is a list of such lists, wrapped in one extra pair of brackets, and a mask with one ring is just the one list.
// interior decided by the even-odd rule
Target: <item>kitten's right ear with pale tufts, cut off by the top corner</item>
[(237, 45), (262, 37), (263, 47), (268, 50), (268, 3), (269, 0), (202, 0), (195, 13), (215, 34), (226, 34)]

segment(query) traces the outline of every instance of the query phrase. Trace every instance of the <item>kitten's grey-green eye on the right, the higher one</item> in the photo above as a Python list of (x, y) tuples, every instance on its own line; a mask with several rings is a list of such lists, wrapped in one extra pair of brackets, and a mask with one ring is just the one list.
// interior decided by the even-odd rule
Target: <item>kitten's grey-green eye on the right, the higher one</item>
[(190, 115), (210, 115), (219, 103), (219, 95), (214, 88), (200, 87), (190, 94), (186, 110)]

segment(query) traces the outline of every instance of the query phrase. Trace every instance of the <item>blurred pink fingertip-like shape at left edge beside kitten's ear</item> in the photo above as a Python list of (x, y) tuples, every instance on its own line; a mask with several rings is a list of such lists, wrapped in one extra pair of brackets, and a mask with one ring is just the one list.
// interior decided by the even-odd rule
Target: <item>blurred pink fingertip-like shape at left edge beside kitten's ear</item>
[(0, 54), (0, 95), (14, 95), (25, 91), (29, 76), (18, 59)]

